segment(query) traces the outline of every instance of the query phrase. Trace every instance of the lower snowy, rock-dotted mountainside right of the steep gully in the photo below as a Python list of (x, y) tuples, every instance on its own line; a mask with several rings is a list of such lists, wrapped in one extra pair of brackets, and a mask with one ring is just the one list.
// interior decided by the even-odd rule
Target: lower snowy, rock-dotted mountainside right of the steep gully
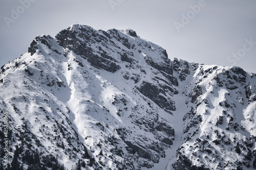
[[(182, 72), (184, 65), (174, 69)], [(183, 79), (182, 93), (189, 111), (177, 160), (166, 169), (256, 168), (255, 74), (239, 67), (188, 65), (191, 73)]]

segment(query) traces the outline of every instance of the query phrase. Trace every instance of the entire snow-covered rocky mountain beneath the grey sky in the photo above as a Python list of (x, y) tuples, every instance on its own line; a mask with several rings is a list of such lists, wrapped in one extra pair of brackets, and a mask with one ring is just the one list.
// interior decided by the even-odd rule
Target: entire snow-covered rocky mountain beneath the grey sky
[(1, 67), (0, 169), (256, 169), (255, 90), (240, 67), (72, 25)]

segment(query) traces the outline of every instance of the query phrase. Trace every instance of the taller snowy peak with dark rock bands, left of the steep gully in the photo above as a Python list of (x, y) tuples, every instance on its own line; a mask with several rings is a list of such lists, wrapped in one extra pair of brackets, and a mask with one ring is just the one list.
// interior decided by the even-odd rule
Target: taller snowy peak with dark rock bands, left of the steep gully
[[(132, 30), (74, 25), (56, 40), (36, 37), (28, 53), (2, 67), (1, 105), (10, 113), (9, 138), (15, 141), (10, 148), (17, 145), (22, 158), (27, 144), (37, 142), (30, 150), (40, 145), (40, 159), (53, 155), (69, 169), (84, 158), (88, 169), (152, 167), (174, 140), (163, 118), (175, 109), (177, 92), (166, 55)], [(35, 141), (15, 137), (23, 131)]]

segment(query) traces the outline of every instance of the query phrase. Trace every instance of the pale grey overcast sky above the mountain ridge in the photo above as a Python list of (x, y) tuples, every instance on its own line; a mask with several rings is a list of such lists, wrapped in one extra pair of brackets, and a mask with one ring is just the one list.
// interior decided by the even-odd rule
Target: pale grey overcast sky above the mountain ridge
[(1, 0), (0, 66), (24, 54), (37, 35), (55, 37), (77, 22), (133, 29), (170, 59), (256, 73), (255, 9), (255, 0)]

